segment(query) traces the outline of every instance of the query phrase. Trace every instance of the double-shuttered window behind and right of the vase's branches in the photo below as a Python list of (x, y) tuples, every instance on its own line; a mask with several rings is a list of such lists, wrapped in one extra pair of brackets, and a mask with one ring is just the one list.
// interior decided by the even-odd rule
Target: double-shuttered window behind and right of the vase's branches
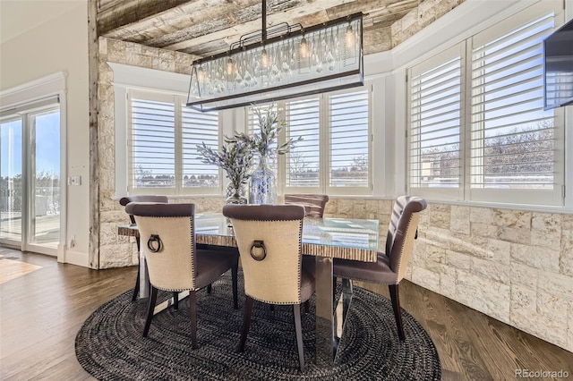
[[(303, 138), (285, 157), (278, 157), (283, 192), (372, 192), (370, 90), (326, 93), (276, 106), (286, 121), (280, 142)], [(252, 133), (255, 119), (252, 110), (247, 114)]]

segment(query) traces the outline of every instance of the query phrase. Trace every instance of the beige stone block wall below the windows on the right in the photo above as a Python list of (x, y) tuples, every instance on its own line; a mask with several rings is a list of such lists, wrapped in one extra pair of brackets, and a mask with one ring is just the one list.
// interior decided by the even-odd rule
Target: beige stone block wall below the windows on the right
[[(330, 199), (325, 216), (378, 219), (390, 200)], [(573, 351), (573, 215), (429, 204), (406, 278)]]

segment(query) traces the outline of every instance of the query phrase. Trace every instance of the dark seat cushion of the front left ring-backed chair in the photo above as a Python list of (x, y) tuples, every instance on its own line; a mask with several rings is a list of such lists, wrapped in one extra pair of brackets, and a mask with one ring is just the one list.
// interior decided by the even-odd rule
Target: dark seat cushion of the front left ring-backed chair
[(201, 288), (213, 283), (232, 267), (237, 260), (236, 253), (217, 250), (197, 250), (195, 253), (195, 287)]

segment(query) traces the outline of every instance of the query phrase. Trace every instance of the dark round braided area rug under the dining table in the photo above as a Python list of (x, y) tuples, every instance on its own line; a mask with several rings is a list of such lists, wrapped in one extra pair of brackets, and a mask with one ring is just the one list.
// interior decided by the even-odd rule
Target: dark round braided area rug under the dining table
[[(235, 352), (243, 326), (244, 290), (239, 271), (239, 309), (233, 309), (230, 274), (197, 292), (199, 348), (191, 349), (189, 302), (156, 315), (142, 337), (147, 299), (125, 292), (99, 307), (75, 339), (78, 360), (99, 380), (439, 380), (440, 360), (432, 339), (402, 310), (406, 341), (400, 342), (389, 300), (359, 287), (346, 319), (332, 368), (314, 364), (314, 299), (302, 317), (301, 373), (291, 306), (255, 302), (245, 350)], [(159, 292), (158, 301), (170, 292)]]

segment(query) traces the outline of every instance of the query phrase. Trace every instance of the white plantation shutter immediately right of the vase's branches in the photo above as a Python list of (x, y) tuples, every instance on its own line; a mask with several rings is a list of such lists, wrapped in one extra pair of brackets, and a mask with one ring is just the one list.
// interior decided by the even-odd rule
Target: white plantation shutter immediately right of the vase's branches
[(311, 97), (286, 103), (286, 139), (297, 141), (286, 157), (286, 187), (321, 185), (321, 102)]

